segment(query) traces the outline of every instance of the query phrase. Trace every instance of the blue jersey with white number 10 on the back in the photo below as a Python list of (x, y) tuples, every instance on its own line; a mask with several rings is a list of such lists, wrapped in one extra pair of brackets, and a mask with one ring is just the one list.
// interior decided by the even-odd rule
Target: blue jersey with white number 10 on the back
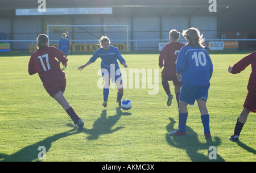
[(176, 72), (182, 73), (181, 82), (192, 86), (206, 86), (213, 73), (212, 60), (202, 47), (184, 46), (177, 57)]

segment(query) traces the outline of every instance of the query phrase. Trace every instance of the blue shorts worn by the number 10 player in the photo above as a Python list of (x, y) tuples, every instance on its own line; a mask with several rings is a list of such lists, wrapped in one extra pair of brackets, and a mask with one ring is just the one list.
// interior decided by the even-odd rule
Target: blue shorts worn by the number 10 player
[(182, 82), (180, 90), (180, 102), (187, 103), (191, 106), (194, 105), (195, 100), (208, 99), (210, 83), (207, 86), (192, 86), (188, 83)]

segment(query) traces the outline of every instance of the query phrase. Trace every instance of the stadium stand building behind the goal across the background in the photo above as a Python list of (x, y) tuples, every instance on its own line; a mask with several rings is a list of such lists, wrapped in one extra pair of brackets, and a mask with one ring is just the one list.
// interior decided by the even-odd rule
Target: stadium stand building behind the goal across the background
[(73, 52), (94, 51), (101, 35), (119, 49), (159, 50), (171, 29), (196, 27), (207, 43), (229, 41), (227, 49), (256, 49), (255, 6), (250, 0), (1, 0), (0, 43), (31, 52), (40, 33), (56, 45), (61, 33), (69, 32)]

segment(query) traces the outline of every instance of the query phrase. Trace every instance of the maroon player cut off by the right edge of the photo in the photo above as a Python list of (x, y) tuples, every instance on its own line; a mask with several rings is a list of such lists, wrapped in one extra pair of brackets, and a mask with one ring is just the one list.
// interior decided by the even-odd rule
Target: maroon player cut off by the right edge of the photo
[(245, 70), (247, 66), (251, 64), (251, 74), (249, 82), (247, 85), (247, 96), (245, 102), (243, 103), (243, 110), (240, 113), (240, 116), (237, 118), (237, 123), (234, 128), (234, 134), (229, 137), (232, 141), (238, 141), (243, 125), (247, 120), (247, 116), (250, 112), (256, 112), (256, 52), (253, 52), (246, 57), (243, 57), (242, 60), (238, 61), (235, 65), (229, 66), (229, 73), (236, 74), (240, 73), (242, 70)]

